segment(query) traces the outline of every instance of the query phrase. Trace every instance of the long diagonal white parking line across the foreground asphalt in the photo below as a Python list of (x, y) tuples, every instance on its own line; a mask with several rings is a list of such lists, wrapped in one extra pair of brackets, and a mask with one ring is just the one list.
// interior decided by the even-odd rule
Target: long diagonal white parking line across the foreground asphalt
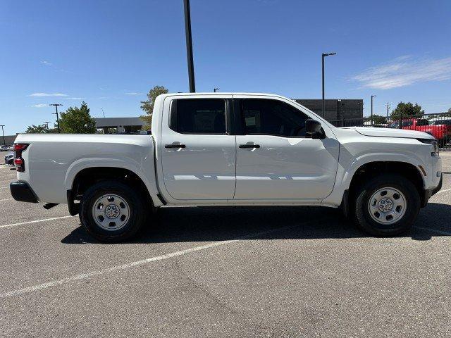
[(34, 292), (34, 291), (47, 289), (48, 287), (55, 287), (56, 285), (66, 284), (68, 282), (74, 282), (74, 281), (77, 281), (77, 280), (85, 280), (85, 279), (90, 278), (90, 277), (94, 277), (94, 276), (98, 276), (98, 275), (104, 275), (105, 273), (112, 273), (113, 271), (125, 270), (125, 269), (128, 269), (128, 268), (132, 268), (134, 266), (137, 266), (137, 265), (143, 265), (143, 264), (152, 263), (152, 262), (155, 262), (155, 261), (163, 261), (163, 260), (168, 259), (168, 258), (183, 256), (183, 255), (186, 255), (187, 253), (191, 253), (191, 252), (194, 252), (194, 251), (201, 251), (201, 250), (205, 250), (205, 249), (211, 249), (211, 248), (214, 248), (216, 246), (221, 246), (221, 245), (237, 242), (237, 241), (240, 241), (242, 239), (254, 238), (254, 237), (257, 237), (257, 236), (262, 236), (264, 234), (271, 234), (272, 232), (281, 231), (281, 230), (288, 230), (288, 229), (291, 229), (291, 228), (294, 228), (294, 227), (299, 227), (299, 226), (302, 226), (302, 225), (308, 225), (309, 223), (318, 223), (318, 222), (321, 222), (321, 221), (322, 220), (315, 220), (315, 221), (309, 221), (309, 222), (306, 222), (306, 223), (302, 223), (302, 224), (299, 224), (299, 225), (291, 225), (291, 226), (288, 226), (288, 227), (278, 227), (277, 229), (272, 229), (272, 230), (267, 230), (267, 231), (262, 231), (262, 232), (256, 232), (254, 234), (247, 234), (246, 236), (237, 237), (236, 239), (230, 239), (230, 240), (227, 240), (227, 241), (219, 241), (219, 242), (214, 242), (214, 243), (205, 244), (205, 245), (201, 245), (201, 246), (194, 246), (193, 248), (190, 248), (190, 249), (174, 251), (174, 252), (171, 252), (171, 253), (166, 253), (165, 255), (155, 256), (155, 257), (151, 257), (151, 258), (146, 258), (146, 259), (143, 259), (141, 261), (130, 262), (130, 263), (126, 263), (126, 264), (123, 264), (123, 265), (116, 265), (116, 266), (112, 266), (111, 268), (107, 268), (107, 269), (104, 269), (104, 270), (92, 271), (90, 273), (80, 273), (80, 275), (75, 275), (75, 276), (63, 278), (61, 280), (52, 280), (51, 282), (47, 282), (47, 283), (43, 283), (43, 284), (37, 284), (37, 285), (34, 285), (32, 287), (25, 287), (23, 289), (17, 289), (17, 290), (13, 290), (13, 291), (3, 292), (3, 293), (0, 293), (0, 298), (6, 298), (6, 297), (12, 297), (12, 296), (20, 296), (21, 294), (27, 294), (27, 293)]

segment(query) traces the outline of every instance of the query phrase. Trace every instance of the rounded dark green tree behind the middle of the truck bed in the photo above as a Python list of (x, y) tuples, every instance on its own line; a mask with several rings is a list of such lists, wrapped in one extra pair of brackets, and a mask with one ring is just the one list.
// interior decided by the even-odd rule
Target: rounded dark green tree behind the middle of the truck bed
[(94, 134), (96, 132), (96, 122), (89, 114), (89, 108), (84, 101), (80, 108), (69, 107), (67, 111), (61, 113), (59, 127), (61, 132), (67, 134)]

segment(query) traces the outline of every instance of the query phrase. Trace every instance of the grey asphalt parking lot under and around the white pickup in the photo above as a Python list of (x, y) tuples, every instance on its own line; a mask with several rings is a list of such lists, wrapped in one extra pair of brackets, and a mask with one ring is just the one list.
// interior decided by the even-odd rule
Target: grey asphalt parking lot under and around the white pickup
[(134, 242), (14, 201), (0, 165), (1, 337), (444, 337), (451, 152), (412, 230), (373, 238), (326, 208), (166, 208)]

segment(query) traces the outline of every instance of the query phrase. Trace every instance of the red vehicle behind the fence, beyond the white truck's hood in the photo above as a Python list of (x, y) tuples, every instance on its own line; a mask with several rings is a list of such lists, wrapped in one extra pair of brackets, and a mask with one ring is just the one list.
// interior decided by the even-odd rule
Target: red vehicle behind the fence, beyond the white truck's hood
[[(447, 142), (451, 141), (451, 125), (443, 120), (434, 119), (433, 121), (426, 120), (426, 118), (409, 118), (402, 120), (402, 129), (418, 130), (419, 132), (427, 132), (438, 139), (440, 146), (445, 146)], [(395, 121), (387, 126), (388, 128), (399, 128), (400, 121)]]

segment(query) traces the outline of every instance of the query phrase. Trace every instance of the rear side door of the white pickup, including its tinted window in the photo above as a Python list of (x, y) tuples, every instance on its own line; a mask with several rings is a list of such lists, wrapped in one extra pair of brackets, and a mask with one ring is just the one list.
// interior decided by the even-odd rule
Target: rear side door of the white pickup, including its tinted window
[(227, 200), (235, 192), (231, 95), (168, 96), (163, 104), (163, 182), (176, 200)]

